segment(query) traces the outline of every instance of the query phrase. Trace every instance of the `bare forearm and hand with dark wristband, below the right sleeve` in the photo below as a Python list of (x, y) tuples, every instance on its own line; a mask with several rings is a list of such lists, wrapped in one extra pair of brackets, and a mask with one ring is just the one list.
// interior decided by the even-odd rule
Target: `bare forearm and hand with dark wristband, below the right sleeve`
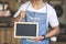
[(32, 40), (35, 41), (35, 42), (37, 42), (37, 41), (42, 41), (42, 40), (55, 36), (58, 33), (59, 33), (59, 26), (57, 25), (57, 26), (54, 26), (53, 30), (50, 31), (46, 35), (38, 36), (38, 37), (32, 38)]

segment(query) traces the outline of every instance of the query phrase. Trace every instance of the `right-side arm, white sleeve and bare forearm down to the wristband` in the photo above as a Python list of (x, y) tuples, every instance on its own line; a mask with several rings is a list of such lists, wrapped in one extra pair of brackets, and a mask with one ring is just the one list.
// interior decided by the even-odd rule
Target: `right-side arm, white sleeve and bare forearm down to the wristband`
[(50, 25), (52, 26), (52, 30), (45, 35), (45, 37), (52, 37), (59, 33), (59, 22), (54, 8), (50, 6), (47, 12), (48, 12), (48, 22), (50, 22)]

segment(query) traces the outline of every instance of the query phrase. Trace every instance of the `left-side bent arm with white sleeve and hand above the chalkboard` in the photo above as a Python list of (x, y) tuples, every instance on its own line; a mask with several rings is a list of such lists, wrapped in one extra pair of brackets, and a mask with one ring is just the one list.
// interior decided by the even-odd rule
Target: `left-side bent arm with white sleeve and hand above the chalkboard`
[[(26, 8), (28, 8), (29, 3), (30, 3), (30, 1), (23, 3), (23, 4), (19, 8), (18, 12), (14, 14), (14, 18), (15, 18), (16, 20), (20, 19), (20, 18), (24, 18), (25, 11), (26, 11)], [(16, 20), (15, 20), (15, 21), (16, 21)]]

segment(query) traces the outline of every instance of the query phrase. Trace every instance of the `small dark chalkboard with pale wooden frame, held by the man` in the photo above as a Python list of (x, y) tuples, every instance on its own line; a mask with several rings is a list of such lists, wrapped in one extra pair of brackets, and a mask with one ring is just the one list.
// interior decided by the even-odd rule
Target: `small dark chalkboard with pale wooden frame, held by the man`
[(38, 36), (38, 23), (36, 22), (15, 22), (14, 37), (34, 38)]

